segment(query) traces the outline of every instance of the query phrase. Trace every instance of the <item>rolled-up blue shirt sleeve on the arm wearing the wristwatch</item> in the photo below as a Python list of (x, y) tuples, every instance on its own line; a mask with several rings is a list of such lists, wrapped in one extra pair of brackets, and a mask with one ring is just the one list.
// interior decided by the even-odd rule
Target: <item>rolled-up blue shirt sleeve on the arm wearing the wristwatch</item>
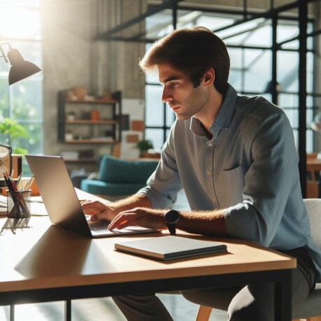
[(252, 132), (252, 164), (245, 173), (243, 203), (225, 211), (227, 233), (269, 246), (291, 192), (298, 192), (299, 157), (285, 113), (266, 115)]

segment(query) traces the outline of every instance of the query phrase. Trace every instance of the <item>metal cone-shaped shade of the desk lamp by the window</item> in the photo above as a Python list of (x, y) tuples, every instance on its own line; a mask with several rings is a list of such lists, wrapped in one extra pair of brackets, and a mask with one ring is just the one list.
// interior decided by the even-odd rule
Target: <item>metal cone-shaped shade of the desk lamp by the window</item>
[(17, 49), (11, 49), (8, 51), (8, 59), (11, 64), (9, 71), (9, 85), (17, 83), (17, 81), (41, 71), (41, 69), (35, 64), (32, 64), (32, 62), (24, 60)]

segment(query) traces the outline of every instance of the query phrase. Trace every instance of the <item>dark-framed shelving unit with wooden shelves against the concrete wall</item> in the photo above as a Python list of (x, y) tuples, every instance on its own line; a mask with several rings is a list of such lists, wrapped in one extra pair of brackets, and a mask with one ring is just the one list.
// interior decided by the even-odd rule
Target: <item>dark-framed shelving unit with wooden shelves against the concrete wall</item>
[[(80, 100), (67, 99), (67, 93), (68, 90), (58, 93), (58, 141), (68, 144), (66, 150), (79, 155), (66, 157), (65, 161), (78, 165), (97, 162), (99, 145), (115, 145), (121, 141), (122, 94), (114, 92), (110, 99)], [(70, 113), (73, 113), (72, 119), (67, 117)], [(80, 145), (83, 150), (79, 150)], [(85, 155), (80, 156), (81, 153)]]

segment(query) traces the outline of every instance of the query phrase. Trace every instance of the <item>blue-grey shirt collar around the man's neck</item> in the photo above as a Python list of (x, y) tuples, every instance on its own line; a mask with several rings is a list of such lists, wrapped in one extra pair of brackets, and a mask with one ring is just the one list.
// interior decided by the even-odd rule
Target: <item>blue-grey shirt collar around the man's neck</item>
[[(216, 119), (210, 127), (210, 131), (213, 134), (213, 136), (216, 137), (220, 129), (229, 128), (229, 124), (231, 123), (231, 117), (234, 113), (236, 100), (237, 92), (234, 89), (234, 87), (228, 84), (227, 92), (225, 93), (220, 111), (218, 112)], [(190, 129), (197, 136), (204, 136), (204, 128), (197, 118), (192, 117)]]

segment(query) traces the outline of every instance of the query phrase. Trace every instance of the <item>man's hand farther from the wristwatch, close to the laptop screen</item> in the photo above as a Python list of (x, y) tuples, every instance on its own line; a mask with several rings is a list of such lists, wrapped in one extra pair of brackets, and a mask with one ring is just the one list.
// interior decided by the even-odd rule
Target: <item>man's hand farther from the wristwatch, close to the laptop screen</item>
[(102, 219), (111, 222), (117, 215), (111, 206), (102, 204), (100, 201), (81, 201), (80, 204), (86, 215), (92, 215), (91, 220), (93, 222)]

